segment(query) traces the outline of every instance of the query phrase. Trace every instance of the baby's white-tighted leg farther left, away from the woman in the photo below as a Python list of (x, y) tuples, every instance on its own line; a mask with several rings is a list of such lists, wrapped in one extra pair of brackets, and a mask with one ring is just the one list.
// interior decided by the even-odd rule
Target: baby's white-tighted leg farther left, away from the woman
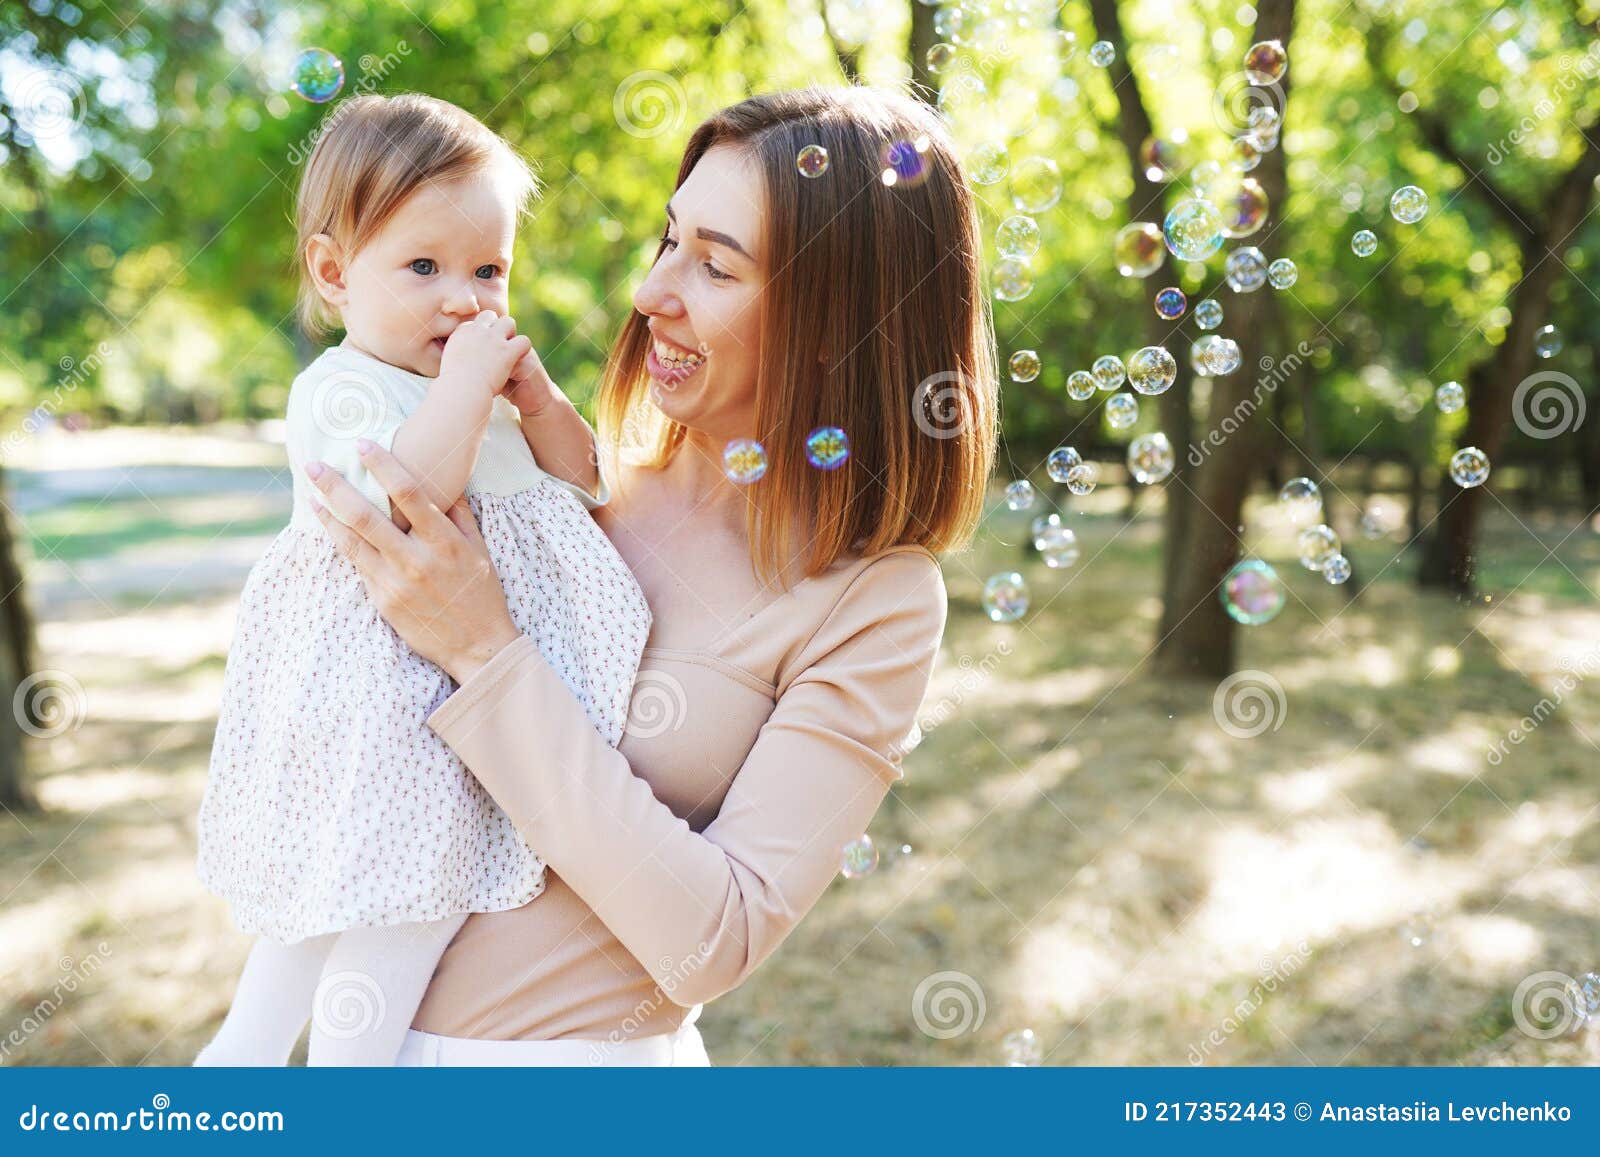
[(195, 1064), (288, 1064), (336, 938), (330, 933), (294, 944), (258, 939), (234, 991), (234, 1005)]

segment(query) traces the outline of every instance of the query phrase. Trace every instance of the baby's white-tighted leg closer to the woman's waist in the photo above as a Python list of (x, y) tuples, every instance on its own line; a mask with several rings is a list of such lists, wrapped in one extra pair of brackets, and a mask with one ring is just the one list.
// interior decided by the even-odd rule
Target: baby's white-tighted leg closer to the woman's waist
[(394, 1064), (438, 957), (466, 919), (339, 933), (312, 1002), (306, 1063)]

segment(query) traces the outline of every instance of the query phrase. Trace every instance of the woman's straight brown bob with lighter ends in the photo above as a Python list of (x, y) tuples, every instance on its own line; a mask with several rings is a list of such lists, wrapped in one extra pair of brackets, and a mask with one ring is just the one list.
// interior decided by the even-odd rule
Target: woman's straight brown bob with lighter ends
[[(754, 96), (694, 130), (677, 186), (723, 144), (757, 160), (766, 190), (757, 573), (784, 574), (795, 542), (808, 549), (806, 574), (850, 552), (965, 546), (994, 466), (998, 382), (978, 208), (938, 114), (872, 88)], [(795, 165), (811, 144), (827, 149), (819, 179)], [(661, 467), (686, 427), (650, 402), (648, 344), (634, 312), (595, 408), (618, 456)], [(819, 426), (850, 437), (843, 467), (808, 462), (806, 435)]]

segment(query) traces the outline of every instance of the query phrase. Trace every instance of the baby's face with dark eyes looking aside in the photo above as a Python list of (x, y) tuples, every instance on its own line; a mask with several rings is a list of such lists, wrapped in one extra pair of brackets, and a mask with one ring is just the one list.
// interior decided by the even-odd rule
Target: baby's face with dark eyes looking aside
[(515, 202), (491, 173), (422, 186), (344, 269), (347, 344), (437, 378), (458, 325), (509, 312), (515, 235)]

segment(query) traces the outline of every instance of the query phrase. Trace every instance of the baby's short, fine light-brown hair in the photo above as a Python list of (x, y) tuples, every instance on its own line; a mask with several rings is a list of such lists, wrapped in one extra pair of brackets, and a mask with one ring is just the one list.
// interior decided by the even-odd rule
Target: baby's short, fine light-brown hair
[(510, 181), (517, 211), (539, 181), (510, 144), (466, 109), (421, 93), (357, 96), (328, 118), (294, 200), (299, 318), (325, 336), (339, 317), (317, 293), (306, 250), (328, 234), (344, 261), (370, 242), (419, 186), (496, 171)]

